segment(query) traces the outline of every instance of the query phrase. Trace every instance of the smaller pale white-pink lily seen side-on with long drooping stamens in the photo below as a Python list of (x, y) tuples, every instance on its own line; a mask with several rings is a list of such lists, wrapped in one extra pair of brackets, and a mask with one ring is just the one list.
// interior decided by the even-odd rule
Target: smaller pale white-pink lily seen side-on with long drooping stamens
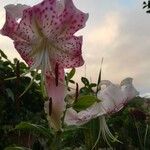
[[(113, 84), (108, 80), (103, 80), (99, 84), (102, 87), (97, 93), (97, 98), (100, 102), (95, 102), (92, 106), (86, 110), (76, 112), (73, 108), (69, 108), (66, 112), (65, 122), (67, 125), (83, 125), (93, 118), (99, 117), (100, 131), (99, 137), (102, 135), (104, 140), (110, 146), (108, 139), (118, 141), (110, 132), (105, 116), (108, 114), (116, 113), (121, 110), (124, 105), (138, 96), (137, 90), (132, 84), (132, 78), (124, 79), (120, 85)], [(99, 140), (98, 137), (98, 140)], [(98, 141), (96, 141), (97, 143)], [(120, 141), (118, 141), (120, 142)], [(95, 145), (94, 145), (95, 147)], [(111, 146), (110, 146), (111, 147)]]

